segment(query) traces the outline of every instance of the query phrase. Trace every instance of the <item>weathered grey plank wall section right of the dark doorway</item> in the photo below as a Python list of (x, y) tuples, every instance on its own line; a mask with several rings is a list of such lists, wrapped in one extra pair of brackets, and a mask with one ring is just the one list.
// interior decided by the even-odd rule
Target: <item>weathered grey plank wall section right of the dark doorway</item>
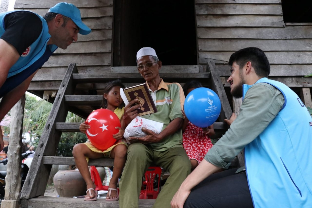
[(312, 24), (285, 24), (280, 0), (195, 0), (195, 11), (201, 71), (213, 59), (226, 79), (233, 52), (259, 47), (270, 76), (284, 77), (289, 86), (302, 85), (299, 78), (312, 72)]

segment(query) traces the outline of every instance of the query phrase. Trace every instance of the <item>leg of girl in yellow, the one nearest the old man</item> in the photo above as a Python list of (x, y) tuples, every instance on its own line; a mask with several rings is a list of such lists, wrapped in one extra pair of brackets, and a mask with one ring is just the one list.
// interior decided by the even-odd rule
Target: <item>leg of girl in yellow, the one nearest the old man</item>
[[(113, 176), (110, 179), (109, 188), (117, 189), (118, 178), (120, 177), (124, 164), (126, 163), (126, 156), (127, 147), (124, 144), (119, 144), (112, 149), (110, 157), (114, 158), (114, 169)], [(106, 199), (110, 198), (117, 198), (117, 191), (112, 190), (110, 196), (106, 196)]]

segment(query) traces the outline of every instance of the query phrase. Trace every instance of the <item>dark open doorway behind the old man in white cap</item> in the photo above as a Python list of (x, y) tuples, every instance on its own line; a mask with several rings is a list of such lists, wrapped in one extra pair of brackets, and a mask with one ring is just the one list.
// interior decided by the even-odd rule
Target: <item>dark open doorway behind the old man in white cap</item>
[(115, 0), (113, 66), (136, 66), (153, 47), (163, 65), (197, 65), (194, 1)]

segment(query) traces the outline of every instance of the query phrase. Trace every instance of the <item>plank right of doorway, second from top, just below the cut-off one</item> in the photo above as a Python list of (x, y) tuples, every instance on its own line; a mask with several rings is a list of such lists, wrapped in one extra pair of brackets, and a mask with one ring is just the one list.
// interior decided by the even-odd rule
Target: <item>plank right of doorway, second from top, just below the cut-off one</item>
[(281, 4), (197, 4), (196, 15), (217, 14), (261, 14), (261, 15), (283, 15)]

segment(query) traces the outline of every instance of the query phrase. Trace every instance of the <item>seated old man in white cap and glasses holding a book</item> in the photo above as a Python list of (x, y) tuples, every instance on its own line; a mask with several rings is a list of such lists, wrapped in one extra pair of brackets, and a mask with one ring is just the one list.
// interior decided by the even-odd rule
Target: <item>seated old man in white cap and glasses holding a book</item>
[[(182, 146), (181, 109), (185, 98), (178, 83), (165, 83), (159, 77), (162, 62), (158, 60), (153, 48), (141, 48), (137, 52), (137, 64), (158, 111), (142, 117), (162, 122), (164, 125), (159, 134), (142, 128), (147, 136), (132, 138), (137, 141), (128, 147), (127, 161), (120, 181), (119, 206), (138, 207), (143, 174), (154, 163), (170, 172), (154, 207), (170, 207), (174, 193), (191, 171), (190, 161)], [(139, 105), (131, 107), (136, 101), (137, 99), (129, 102), (125, 107), (125, 126), (137, 116), (136, 109)]]

